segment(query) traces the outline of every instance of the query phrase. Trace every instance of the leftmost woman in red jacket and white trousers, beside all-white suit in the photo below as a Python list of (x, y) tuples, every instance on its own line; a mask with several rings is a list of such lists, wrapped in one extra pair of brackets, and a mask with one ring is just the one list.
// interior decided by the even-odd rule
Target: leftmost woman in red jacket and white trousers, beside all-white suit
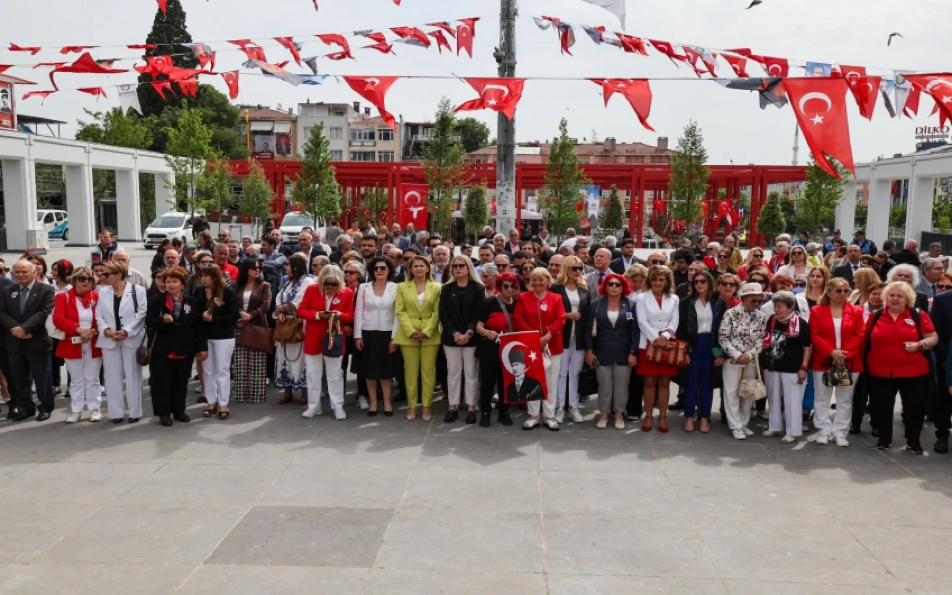
[[(89, 421), (100, 422), (102, 387), (99, 386), (99, 368), (103, 352), (96, 347), (96, 307), (99, 294), (92, 288), (96, 276), (89, 268), (77, 268), (69, 277), (72, 288), (56, 296), (53, 307), (53, 326), (66, 333), (56, 347), (56, 357), (66, 360), (69, 370), (69, 415), (67, 424), (75, 424), (83, 417), (83, 408), (89, 409)], [(109, 305), (111, 306), (111, 305)]]

